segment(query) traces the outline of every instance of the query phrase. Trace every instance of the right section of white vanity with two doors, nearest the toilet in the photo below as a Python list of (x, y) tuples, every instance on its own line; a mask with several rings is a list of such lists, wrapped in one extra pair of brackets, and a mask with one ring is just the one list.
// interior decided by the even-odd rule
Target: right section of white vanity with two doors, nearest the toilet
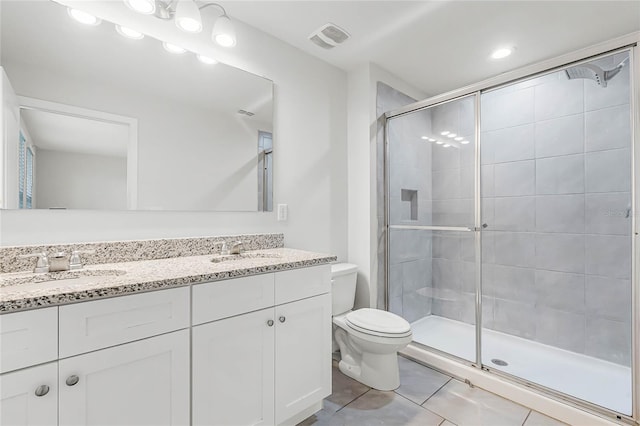
[(330, 266), (250, 278), (193, 287), (194, 425), (295, 424), (331, 393)]

